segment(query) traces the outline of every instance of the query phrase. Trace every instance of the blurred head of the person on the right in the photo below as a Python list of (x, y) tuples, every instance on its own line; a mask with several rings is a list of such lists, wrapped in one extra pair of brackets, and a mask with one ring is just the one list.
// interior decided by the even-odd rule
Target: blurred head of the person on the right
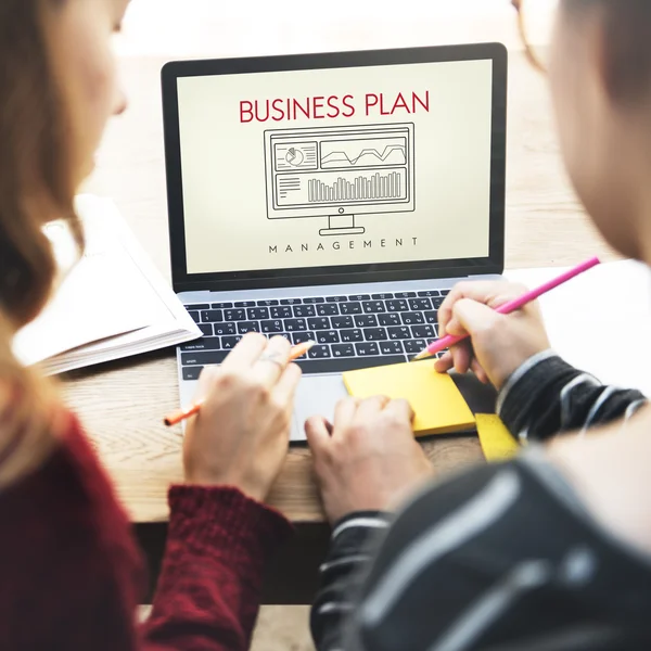
[(651, 1), (561, 0), (549, 75), (580, 200), (615, 248), (651, 261)]

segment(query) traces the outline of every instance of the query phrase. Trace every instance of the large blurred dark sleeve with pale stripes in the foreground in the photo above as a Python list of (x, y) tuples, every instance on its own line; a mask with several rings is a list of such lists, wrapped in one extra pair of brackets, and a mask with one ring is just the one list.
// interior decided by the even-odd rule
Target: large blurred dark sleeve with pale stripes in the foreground
[(603, 535), (538, 463), (480, 467), (417, 496), (381, 533), (373, 562), (342, 575), (333, 607), (315, 605), (317, 649), (651, 648), (651, 559)]

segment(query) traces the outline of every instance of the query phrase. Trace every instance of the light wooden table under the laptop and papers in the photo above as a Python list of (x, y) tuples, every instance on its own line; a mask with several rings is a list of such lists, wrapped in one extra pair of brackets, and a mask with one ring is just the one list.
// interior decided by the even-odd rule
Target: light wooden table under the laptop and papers
[[(154, 263), (169, 278), (158, 82), (164, 62), (156, 58), (124, 62), (129, 111), (111, 124), (88, 190), (115, 199)], [(569, 265), (595, 254), (603, 259), (615, 257), (569, 187), (545, 79), (528, 67), (521, 53), (512, 53), (507, 268)], [(133, 522), (141, 525), (141, 538), (158, 548), (162, 538), (152, 534), (148, 524), (167, 520), (167, 487), (182, 480), (180, 429), (168, 430), (161, 422), (162, 413), (178, 405), (176, 378), (174, 352), (166, 350), (64, 379), (66, 399), (85, 422)], [(429, 441), (424, 447), (439, 472), (482, 459), (475, 437), (444, 437)], [(310, 578), (303, 582), (302, 590), (293, 591), (290, 578), (283, 575), (286, 590), (271, 590), (268, 598), (301, 602), (314, 588), (318, 557), (327, 541), (308, 449), (290, 450), (269, 503), (299, 525), (299, 537), (286, 550), (285, 560), (291, 560), (293, 575)], [(164, 525), (155, 531), (161, 528)], [(297, 560), (299, 556), (305, 563)], [(279, 574), (285, 571), (281, 565), (277, 567)]]

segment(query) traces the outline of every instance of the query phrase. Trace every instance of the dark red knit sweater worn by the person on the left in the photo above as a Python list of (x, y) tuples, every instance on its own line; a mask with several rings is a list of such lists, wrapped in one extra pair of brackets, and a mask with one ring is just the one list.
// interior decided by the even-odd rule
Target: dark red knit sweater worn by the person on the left
[(291, 527), (235, 488), (175, 486), (150, 620), (143, 565), (78, 421), (35, 474), (0, 493), (0, 649), (248, 648), (263, 567)]

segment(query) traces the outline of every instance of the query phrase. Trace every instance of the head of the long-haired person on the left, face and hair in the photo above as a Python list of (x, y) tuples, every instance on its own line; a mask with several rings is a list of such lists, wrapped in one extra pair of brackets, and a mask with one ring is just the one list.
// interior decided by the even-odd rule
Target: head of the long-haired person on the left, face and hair
[(55, 266), (42, 226), (66, 218), (120, 113), (112, 35), (128, 0), (0, 2), (0, 311), (15, 329), (47, 301)]

